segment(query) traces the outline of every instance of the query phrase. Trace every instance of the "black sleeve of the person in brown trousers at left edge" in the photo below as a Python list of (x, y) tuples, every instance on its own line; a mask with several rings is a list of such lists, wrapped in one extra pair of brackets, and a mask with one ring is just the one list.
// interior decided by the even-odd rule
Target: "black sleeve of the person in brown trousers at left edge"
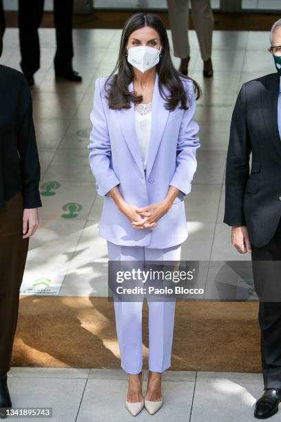
[(21, 85), (17, 150), (21, 166), (23, 208), (39, 208), (42, 206), (39, 193), (41, 168), (32, 119), (32, 97), (24, 77)]

